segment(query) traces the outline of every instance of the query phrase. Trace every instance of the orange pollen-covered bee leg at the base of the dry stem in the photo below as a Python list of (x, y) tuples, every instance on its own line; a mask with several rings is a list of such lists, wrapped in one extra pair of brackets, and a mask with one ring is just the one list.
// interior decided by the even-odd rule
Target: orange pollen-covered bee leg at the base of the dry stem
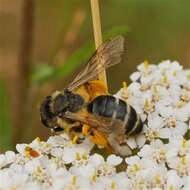
[(107, 86), (100, 80), (93, 80), (87, 83), (87, 89), (91, 99), (97, 96), (108, 94)]

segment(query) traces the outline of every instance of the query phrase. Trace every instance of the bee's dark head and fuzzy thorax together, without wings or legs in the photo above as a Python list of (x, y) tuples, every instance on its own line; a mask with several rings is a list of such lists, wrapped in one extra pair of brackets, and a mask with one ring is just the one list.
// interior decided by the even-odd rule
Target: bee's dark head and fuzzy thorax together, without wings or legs
[(74, 94), (67, 89), (64, 92), (56, 91), (51, 96), (47, 96), (42, 102), (40, 107), (41, 121), (46, 127), (59, 132), (63, 130), (63, 124), (60, 121), (68, 120), (64, 118), (65, 112), (76, 112), (81, 109), (83, 104), (84, 99), (78, 94)]

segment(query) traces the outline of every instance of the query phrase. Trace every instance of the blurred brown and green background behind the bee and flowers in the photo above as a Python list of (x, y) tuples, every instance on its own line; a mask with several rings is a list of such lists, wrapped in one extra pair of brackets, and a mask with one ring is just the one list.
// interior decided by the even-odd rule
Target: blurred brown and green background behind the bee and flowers
[[(108, 73), (116, 92), (137, 64), (190, 63), (189, 0), (100, 0), (104, 39), (122, 34), (127, 54)], [(44, 96), (63, 89), (94, 51), (90, 0), (0, 0), (0, 152), (50, 134)]]

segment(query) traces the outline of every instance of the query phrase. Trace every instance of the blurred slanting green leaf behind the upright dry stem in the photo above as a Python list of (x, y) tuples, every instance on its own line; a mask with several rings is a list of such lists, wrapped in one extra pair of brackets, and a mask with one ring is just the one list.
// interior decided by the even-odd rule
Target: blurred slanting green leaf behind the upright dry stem
[[(117, 35), (124, 35), (129, 31), (126, 25), (115, 26), (103, 34), (103, 39), (112, 38)], [(32, 81), (36, 84), (43, 84), (49, 80), (58, 80), (71, 74), (81, 64), (85, 64), (95, 51), (94, 42), (88, 42), (76, 50), (68, 60), (58, 67), (45, 64), (38, 64), (32, 73)]]

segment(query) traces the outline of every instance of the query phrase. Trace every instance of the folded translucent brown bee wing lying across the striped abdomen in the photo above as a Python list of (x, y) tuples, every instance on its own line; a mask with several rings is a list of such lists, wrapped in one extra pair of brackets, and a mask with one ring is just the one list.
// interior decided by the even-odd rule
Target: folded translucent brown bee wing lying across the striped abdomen
[(104, 133), (119, 132), (120, 129), (123, 128), (122, 121), (118, 119), (114, 120), (113, 122), (112, 118), (106, 118), (90, 113), (88, 115), (83, 115), (67, 111), (64, 113), (63, 117), (73, 121), (79, 121), (81, 123), (90, 125), (91, 127), (96, 127), (99, 131)]

